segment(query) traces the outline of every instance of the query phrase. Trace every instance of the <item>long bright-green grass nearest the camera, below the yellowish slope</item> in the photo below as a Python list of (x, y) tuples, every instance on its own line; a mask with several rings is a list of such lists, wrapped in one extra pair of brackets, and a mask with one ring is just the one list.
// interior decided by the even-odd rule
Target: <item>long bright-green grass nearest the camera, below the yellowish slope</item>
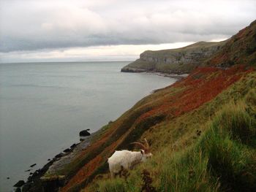
[(249, 109), (244, 101), (227, 104), (195, 145), (180, 152), (165, 147), (127, 180), (102, 180), (97, 190), (141, 191), (146, 169), (157, 191), (254, 191), (256, 127)]

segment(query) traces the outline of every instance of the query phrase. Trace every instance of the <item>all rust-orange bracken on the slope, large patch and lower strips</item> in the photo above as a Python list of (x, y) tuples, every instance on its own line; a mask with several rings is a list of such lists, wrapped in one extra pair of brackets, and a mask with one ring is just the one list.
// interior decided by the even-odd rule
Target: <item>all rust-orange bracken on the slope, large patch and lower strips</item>
[[(198, 68), (184, 80), (178, 81), (173, 85), (165, 88), (165, 91), (171, 91), (177, 89), (175, 94), (164, 96), (158, 101), (154, 101), (153, 110), (143, 113), (135, 121), (135, 124), (139, 123), (146, 118), (153, 115), (164, 114), (167, 117), (177, 117), (191, 110), (195, 110), (202, 104), (214, 99), (219, 93), (225, 90), (228, 86), (239, 80), (246, 72), (250, 72), (252, 69), (246, 69), (245, 66), (233, 66), (229, 69), (219, 69), (214, 67)], [(116, 120), (113, 125), (103, 134), (97, 141), (91, 144), (81, 155), (83, 157), (101, 147), (110, 137), (114, 131), (121, 126), (121, 122), (124, 119), (121, 117)], [(130, 125), (130, 128), (134, 126)], [(127, 131), (128, 132), (128, 131)], [(111, 143), (108, 147), (103, 149), (102, 152), (96, 155), (85, 164), (74, 177), (61, 189), (61, 191), (68, 191), (72, 186), (85, 182), (95, 170), (107, 160), (108, 156), (113, 153), (122, 139), (126, 137), (126, 134), (119, 137), (118, 140)]]

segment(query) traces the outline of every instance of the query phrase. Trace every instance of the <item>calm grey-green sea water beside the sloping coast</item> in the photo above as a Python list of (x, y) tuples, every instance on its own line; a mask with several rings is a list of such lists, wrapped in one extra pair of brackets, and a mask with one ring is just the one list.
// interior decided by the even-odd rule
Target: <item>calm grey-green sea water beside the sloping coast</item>
[[(0, 64), (0, 191), (175, 80), (121, 73), (129, 62)], [(7, 180), (7, 177), (10, 177)]]

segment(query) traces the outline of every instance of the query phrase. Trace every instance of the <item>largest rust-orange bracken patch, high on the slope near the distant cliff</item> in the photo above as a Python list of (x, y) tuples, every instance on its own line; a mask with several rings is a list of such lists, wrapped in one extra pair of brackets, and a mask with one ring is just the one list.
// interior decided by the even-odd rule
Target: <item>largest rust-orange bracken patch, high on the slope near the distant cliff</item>
[(154, 110), (146, 112), (140, 116), (139, 120), (144, 120), (152, 115), (163, 114), (177, 117), (185, 112), (195, 110), (200, 105), (214, 99), (228, 86), (239, 80), (246, 71), (244, 66), (233, 66), (230, 69), (218, 69), (213, 67), (203, 67), (195, 70), (186, 79), (176, 82), (169, 88), (185, 88), (180, 93), (170, 96), (155, 107)]

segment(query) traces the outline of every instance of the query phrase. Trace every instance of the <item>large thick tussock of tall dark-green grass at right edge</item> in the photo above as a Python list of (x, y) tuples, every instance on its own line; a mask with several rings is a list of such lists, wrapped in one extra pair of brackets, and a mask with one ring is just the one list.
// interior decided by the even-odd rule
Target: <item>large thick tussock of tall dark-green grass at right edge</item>
[(225, 191), (256, 189), (255, 115), (246, 109), (244, 102), (227, 105), (197, 146), (208, 156), (208, 170)]

